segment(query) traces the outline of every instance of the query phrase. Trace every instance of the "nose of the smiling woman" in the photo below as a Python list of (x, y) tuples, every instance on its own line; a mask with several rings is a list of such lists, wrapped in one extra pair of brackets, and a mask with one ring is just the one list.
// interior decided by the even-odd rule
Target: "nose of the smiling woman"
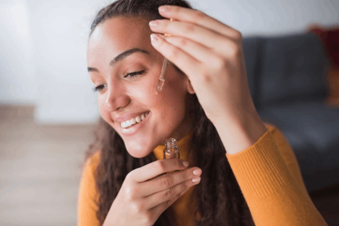
[(114, 86), (114, 88), (108, 88), (107, 90), (107, 97), (105, 101), (105, 108), (109, 112), (114, 112), (119, 107), (124, 107), (129, 104), (129, 97), (125, 95), (124, 90), (121, 90), (121, 88), (117, 88), (117, 86)]

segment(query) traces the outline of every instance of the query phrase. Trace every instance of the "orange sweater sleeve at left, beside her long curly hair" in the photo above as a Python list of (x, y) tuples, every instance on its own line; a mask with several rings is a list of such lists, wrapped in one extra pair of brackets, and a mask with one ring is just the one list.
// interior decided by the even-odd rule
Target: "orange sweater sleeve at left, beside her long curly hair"
[(78, 190), (78, 226), (99, 226), (96, 210), (97, 191), (95, 189), (94, 172), (97, 166), (98, 153), (90, 157), (83, 168)]

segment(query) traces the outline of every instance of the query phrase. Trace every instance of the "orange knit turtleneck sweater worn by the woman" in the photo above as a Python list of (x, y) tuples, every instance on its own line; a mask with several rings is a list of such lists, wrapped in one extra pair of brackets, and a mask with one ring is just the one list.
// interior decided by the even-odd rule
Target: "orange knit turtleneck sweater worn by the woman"
[[(295, 154), (283, 133), (271, 124), (253, 145), (235, 155), (225, 153), (234, 176), (244, 194), (256, 225), (274, 226), (323, 226), (327, 225), (307, 193)], [(194, 167), (192, 157), (187, 156), (191, 131), (178, 141), (180, 158)], [(153, 152), (162, 159), (164, 145)], [(78, 226), (97, 226), (95, 211), (94, 172), (99, 153), (86, 162), (78, 191)], [(172, 204), (179, 226), (192, 225), (189, 197), (195, 186)]]

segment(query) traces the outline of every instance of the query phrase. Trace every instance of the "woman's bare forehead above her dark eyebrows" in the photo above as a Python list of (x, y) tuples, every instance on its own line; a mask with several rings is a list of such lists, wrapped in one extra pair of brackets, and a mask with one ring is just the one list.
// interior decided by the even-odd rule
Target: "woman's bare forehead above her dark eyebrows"
[[(121, 52), (139, 47), (152, 52), (148, 21), (143, 18), (110, 18), (97, 25), (88, 40), (88, 63), (100, 57), (116, 57)], [(94, 62), (93, 62), (94, 63)]]

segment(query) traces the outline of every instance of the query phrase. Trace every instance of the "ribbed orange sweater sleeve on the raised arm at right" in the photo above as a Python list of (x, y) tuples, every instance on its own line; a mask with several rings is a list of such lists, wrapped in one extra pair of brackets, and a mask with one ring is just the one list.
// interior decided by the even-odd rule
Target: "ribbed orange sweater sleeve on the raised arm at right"
[(327, 225), (312, 203), (297, 159), (275, 126), (227, 160), (257, 226)]

